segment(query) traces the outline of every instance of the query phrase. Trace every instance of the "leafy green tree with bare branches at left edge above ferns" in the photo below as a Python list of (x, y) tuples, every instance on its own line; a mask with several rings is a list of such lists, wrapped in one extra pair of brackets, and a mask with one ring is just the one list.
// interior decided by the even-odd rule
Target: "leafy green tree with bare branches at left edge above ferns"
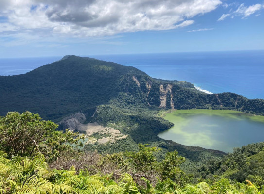
[(8, 112), (0, 117), (0, 149), (12, 155), (34, 156), (42, 153), (54, 159), (63, 151), (73, 150), (72, 144), (82, 146), (79, 133), (56, 131), (57, 124), (45, 121), (38, 114)]

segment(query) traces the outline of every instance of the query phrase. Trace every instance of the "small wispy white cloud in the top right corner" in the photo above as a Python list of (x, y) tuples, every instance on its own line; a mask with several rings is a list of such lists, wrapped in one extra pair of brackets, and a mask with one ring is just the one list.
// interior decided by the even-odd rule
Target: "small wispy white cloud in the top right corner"
[[(230, 4), (230, 6), (235, 5), (235, 4)], [(250, 6), (245, 6), (244, 3), (238, 6), (238, 8), (233, 11), (232, 9), (230, 10), (229, 14), (223, 14), (218, 21), (222, 21), (226, 19), (227, 17), (235, 17), (235, 16), (242, 16), (242, 18), (247, 18), (248, 16), (258, 12), (259, 10), (263, 9), (264, 5), (261, 4), (254, 4)]]

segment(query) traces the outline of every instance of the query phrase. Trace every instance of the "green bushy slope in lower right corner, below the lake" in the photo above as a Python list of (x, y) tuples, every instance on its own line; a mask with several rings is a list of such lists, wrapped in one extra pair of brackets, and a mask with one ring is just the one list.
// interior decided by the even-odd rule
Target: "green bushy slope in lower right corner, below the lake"
[(211, 160), (198, 172), (203, 178), (217, 175), (239, 182), (250, 179), (261, 188), (264, 185), (264, 142), (234, 148), (234, 152), (220, 162)]

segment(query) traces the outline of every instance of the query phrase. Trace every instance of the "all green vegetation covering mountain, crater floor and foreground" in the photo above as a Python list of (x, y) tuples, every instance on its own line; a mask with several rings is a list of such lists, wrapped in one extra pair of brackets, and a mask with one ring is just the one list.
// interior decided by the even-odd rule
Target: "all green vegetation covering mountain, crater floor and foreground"
[[(173, 126), (158, 116), (164, 110), (226, 109), (264, 115), (262, 99), (208, 95), (191, 83), (153, 79), (133, 67), (76, 56), (26, 74), (0, 76), (0, 83), (0, 193), (263, 192), (262, 144), (224, 157), (217, 150), (157, 136)], [(167, 94), (161, 93), (161, 84)], [(159, 108), (161, 95), (166, 95), (164, 109)], [(57, 131), (56, 124), (26, 110), (54, 122), (81, 112), (82, 124), (96, 121), (127, 137), (86, 145), (80, 152), (84, 136)]]

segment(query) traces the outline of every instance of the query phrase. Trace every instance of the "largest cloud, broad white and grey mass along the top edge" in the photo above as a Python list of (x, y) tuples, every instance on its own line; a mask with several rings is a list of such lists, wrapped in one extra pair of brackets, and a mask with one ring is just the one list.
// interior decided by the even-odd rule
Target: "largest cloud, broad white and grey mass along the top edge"
[(194, 23), (220, 0), (1, 0), (13, 30), (49, 30), (74, 37), (169, 30)]

